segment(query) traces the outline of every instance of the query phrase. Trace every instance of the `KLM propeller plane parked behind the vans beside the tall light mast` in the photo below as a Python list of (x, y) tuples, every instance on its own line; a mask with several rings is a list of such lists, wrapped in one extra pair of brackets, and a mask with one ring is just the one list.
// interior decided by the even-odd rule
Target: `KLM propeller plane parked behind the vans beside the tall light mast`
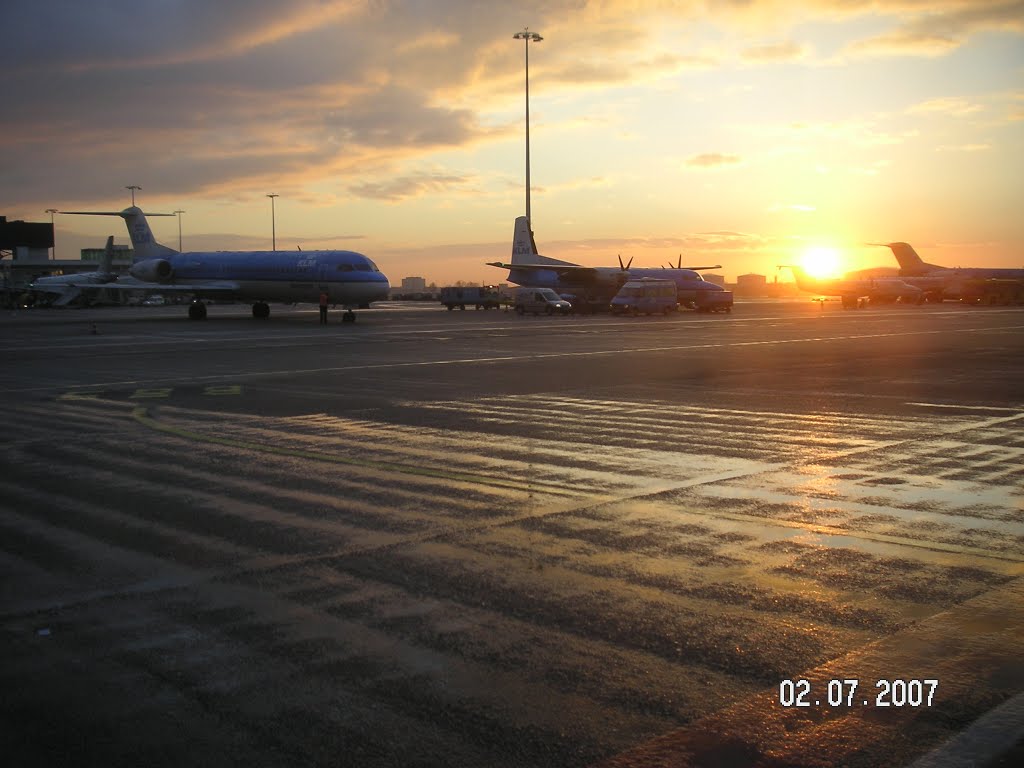
[(683, 266), (682, 257), (678, 266), (633, 267), (633, 259), (618, 266), (583, 266), (570, 261), (542, 256), (537, 251), (537, 242), (525, 216), (515, 220), (512, 237), (512, 262), (489, 261), (488, 266), (509, 270), (509, 283), (535, 288), (551, 288), (561, 296), (571, 296), (573, 306), (599, 305), (607, 308), (608, 302), (627, 281), (642, 278), (672, 280), (681, 304), (691, 304), (701, 291), (722, 291), (721, 286), (709, 283), (697, 274), (697, 269), (718, 269), (712, 266)]

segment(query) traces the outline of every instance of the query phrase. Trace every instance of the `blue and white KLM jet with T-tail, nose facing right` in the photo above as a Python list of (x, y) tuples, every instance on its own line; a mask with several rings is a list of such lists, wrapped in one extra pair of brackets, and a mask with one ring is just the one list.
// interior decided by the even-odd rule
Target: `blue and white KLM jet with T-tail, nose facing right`
[[(268, 317), (267, 302), (328, 303), (345, 308), (342, 319), (355, 319), (355, 308), (388, 297), (387, 278), (373, 261), (354, 251), (211, 251), (179, 253), (153, 237), (141, 209), (120, 212), (60, 211), (79, 216), (120, 216), (135, 249), (131, 276), (104, 288), (119, 291), (159, 291), (187, 294), (190, 319), (206, 317), (202, 299), (251, 301), (254, 317)], [(151, 214), (171, 216), (173, 214)]]

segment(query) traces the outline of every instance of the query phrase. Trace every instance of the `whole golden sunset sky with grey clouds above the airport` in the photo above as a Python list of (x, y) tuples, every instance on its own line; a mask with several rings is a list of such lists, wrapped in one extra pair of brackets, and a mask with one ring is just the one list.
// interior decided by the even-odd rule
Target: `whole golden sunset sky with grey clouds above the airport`
[[(184, 250), (345, 248), (497, 283), (583, 264), (1024, 266), (1020, 0), (0, 5), (0, 214), (183, 209)], [(117, 222), (114, 226), (113, 222)], [(155, 218), (177, 247), (177, 222)], [(56, 218), (58, 258), (127, 242)], [(785, 276), (788, 279), (788, 275)]]

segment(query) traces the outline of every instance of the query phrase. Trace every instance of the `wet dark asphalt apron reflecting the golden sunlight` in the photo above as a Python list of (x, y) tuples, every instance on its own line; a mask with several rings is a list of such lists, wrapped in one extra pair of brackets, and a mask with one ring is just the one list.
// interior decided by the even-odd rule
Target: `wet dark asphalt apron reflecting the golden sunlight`
[(1022, 308), (28, 310), (0, 350), (6, 764), (1019, 750)]

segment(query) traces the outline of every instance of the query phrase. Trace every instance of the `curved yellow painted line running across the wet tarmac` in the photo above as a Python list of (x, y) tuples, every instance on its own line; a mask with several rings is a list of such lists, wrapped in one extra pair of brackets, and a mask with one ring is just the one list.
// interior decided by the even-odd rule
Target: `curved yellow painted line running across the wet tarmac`
[(276, 456), (291, 456), (298, 459), (309, 459), (311, 461), (328, 462), (331, 464), (344, 464), (352, 467), (362, 467), (364, 469), (376, 469), (382, 472), (399, 472), (401, 474), (417, 475), (420, 477), (433, 477), (440, 480), (455, 482), (469, 482), (476, 485), (492, 485), (495, 487), (511, 488), (523, 493), (541, 493), (550, 496), (564, 496), (567, 498), (579, 498), (579, 492), (567, 490), (560, 484), (545, 482), (543, 480), (525, 482), (522, 480), (507, 480), (489, 475), (478, 475), (470, 472), (451, 472), (443, 469), (432, 469), (430, 467), (418, 467), (414, 464), (399, 464), (397, 462), (382, 462), (372, 459), (356, 459), (348, 456), (338, 456), (336, 454), (324, 454), (316, 451), (306, 451), (303, 449), (289, 449), (279, 445), (268, 445), (260, 442), (248, 442), (232, 437), (219, 437), (216, 435), (194, 432), (181, 427), (174, 427), (153, 418), (148, 410), (143, 406), (138, 406), (132, 411), (132, 418), (139, 424), (155, 429), (158, 432), (171, 434), (185, 440), (196, 442), (210, 442), (218, 445), (228, 445), (230, 447), (243, 449), (245, 451), (258, 451), (262, 454), (274, 454)]

